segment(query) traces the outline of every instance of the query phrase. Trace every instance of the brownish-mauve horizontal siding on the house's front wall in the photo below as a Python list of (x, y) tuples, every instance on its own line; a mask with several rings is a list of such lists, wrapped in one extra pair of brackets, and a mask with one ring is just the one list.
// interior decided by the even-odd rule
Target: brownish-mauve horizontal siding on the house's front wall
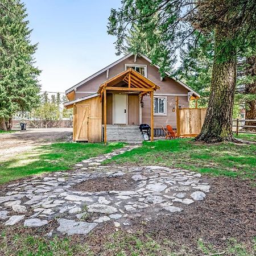
[[(189, 102), (187, 101), (187, 96), (180, 96), (183, 94), (187, 94), (188, 90), (176, 82), (174, 79), (169, 77), (165, 77), (163, 81), (160, 80), (160, 74), (158, 72), (158, 68), (152, 66), (147, 60), (142, 57), (137, 57), (136, 63), (134, 63), (134, 56), (130, 56), (129, 58), (121, 61), (114, 67), (109, 69), (109, 79), (118, 75), (119, 73), (125, 70), (125, 64), (136, 64), (136, 65), (147, 65), (147, 78), (154, 82), (156, 85), (160, 86), (159, 90), (154, 92), (155, 96), (164, 96), (164, 94), (179, 94), (180, 105), (183, 108), (187, 108), (189, 106)], [(77, 92), (75, 98), (81, 98), (84, 96), (88, 96), (93, 92), (97, 92), (100, 84), (108, 80), (106, 78), (106, 72), (101, 73), (100, 75), (94, 77), (92, 80), (89, 80), (85, 84), (79, 86), (77, 88)], [(89, 93), (85, 93), (89, 92)], [(108, 94), (107, 96), (107, 123), (113, 123), (113, 97)], [(176, 114), (172, 112), (172, 105), (175, 104), (175, 96), (167, 96), (167, 115), (154, 115), (154, 127), (160, 127), (162, 125), (171, 124), (176, 127)], [(137, 105), (137, 102), (136, 102)], [(133, 111), (133, 110), (132, 110)], [(137, 118), (137, 107), (135, 107), (136, 117)], [(131, 111), (128, 112), (129, 115), (129, 123), (133, 123)], [(103, 115), (102, 115), (103, 116)], [(137, 122), (138, 120), (135, 120)], [(148, 123), (150, 125), (150, 97), (144, 97), (144, 108), (142, 109), (142, 123)]]

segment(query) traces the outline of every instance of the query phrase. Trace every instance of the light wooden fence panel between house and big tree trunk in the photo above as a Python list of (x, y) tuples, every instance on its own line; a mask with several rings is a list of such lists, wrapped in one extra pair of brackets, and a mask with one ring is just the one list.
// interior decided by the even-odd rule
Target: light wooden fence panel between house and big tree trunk
[[(177, 113), (178, 137), (196, 137), (203, 126), (206, 108), (182, 108)], [(178, 125), (179, 123), (179, 125)]]

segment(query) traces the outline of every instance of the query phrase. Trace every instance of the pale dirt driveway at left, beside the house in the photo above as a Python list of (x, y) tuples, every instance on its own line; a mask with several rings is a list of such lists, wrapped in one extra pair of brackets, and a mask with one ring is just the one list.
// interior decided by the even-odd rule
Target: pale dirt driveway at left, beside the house
[(72, 128), (27, 129), (0, 134), (0, 161), (13, 158), (36, 146), (71, 138)]

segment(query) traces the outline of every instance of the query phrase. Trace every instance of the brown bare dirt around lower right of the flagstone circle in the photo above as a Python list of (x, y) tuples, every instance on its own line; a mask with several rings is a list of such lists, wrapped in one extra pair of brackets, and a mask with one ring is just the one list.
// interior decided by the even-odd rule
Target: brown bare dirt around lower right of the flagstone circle
[[(203, 201), (187, 205), (183, 212), (170, 214), (169, 216), (155, 216), (148, 222), (142, 222), (141, 218), (135, 218), (127, 230), (124, 229), (116, 240), (109, 237), (115, 233), (113, 225), (106, 224), (104, 228), (96, 228), (89, 236), (74, 235), (69, 237), (69, 245), (81, 245), (86, 243), (93, 251), (93, 255), (114, 256), (114, 250), (107, 250), (106, 243), (114, 243), (117, 246), (127, 245), (123, 250), (130, 251), (127, 236), (137, 236), (142, 242), (147, 242), (146, 235), (149, 235), (168, 251), (176, 252), (177, 255), (205, 255), (199, 249), (197, 241), (203, 240), (206, 244), (212, 245), (214, 249), (225, 252), (223, 255), (254, 255), (228, 253), (226, 247), (230, 238), (237, 242), (244, 243), (249, 251), (253, 251), (253, 237), (256, 236), (256, 193), (250, 181), (232, 179), (228, 177), (209, 177), (212, 188), (209, 195)], [(52, 226), (51, 226), (52, 225)], [(14, 251), (18, 243), (13, 236), (22, 233), (24, 236), (46, 237), (46, 234), (56, 228), (56, 221), (49, 226), (38, 229), (24, 229), (22, 226), (1, 227), (7, 234), (7, 246)], [(64, 238), (65, 236), (61, 236)], [(122, 238), (123, 237), (123, 238)], [(170, 241), (166, 243), (166, 241)], [(124, 243), (124, 241), (126, 241)], [(1, 244), (1, 241), (0, 241)], [(0, 246), (1, 247), (1, 246)], [(181, 251), (183, 253), (181, 253)], [(1, 249), (0, 249), (0, 255)], [(77, 253), (76, 255), (85, 255)], [(124, 254), (118, 254), (124, 255)], [(127, 253), (126, 255), (131, 255)], [(137, 254), (136, 254), (137, 255)], [(141, 255), (166, 255), (159, 251), (158, 254)], [(176, 255), (176, 254), (174, 254)], [(215, 255), (215, 254), (214, 254)]]

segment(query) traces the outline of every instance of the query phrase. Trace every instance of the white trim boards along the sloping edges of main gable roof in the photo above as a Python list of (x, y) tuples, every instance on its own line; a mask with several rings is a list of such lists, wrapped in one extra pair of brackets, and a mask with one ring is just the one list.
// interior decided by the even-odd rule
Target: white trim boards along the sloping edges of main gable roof
[[(133, 53), (129, 53), (129, 54), (123, 56), (121, 59), (119, 59), (119, 60), (113, 62), (112, 64), (108, 65), (108, 66), (105, 67), (105, 68), (102, 68), (100, 71), (94, 73), (92, 76), (89, 76), (89, 77), (87, 77), (86, 79), (84, 79), (84, 80), (82, 80), (81, 82), (79, 82), (78, 84), (72, 86), (71, 88), (69, 88), (68, 90), (66, 90), (65, 93), (68, 94), (68, 93), (72, 92), (72, 90), (75, 90), (75, 89), (76, 89), (77, 87), (79, 87), (80, 85), (84, 84), (85, 82), (88, 82), (89, 80), (93, 79), (94, 77), (100, 75), (101, 73), (107, 71), (108, 69), (114, 67), (115, 65), (117, 65), (117, 64), (120, 63), (121, 61), (123, 61), (123, 60), (125, 60), (125, 59), (127, 59), (127, 58), (129, 58), (130, 56), (133, 56), (133, 55), (134, 55)], [(143, 55), (143, 54), (140, 54), (139, 56), (140, 56), (140, 57), (143, 57), (143, 59), (147, 60), (150, 64), (152, 64), (152, 61), (151, 61), (150, 59), (148, 59), (147, 56), (145, 56), (145, 55)], [(154, 66), (155, 66), (156, 68), (158, 68), (158, 69), (160, 68), (159, 65), (154, 64)], [(192, 93), (195, 94), (196, 96), (200, 97), (200, 95), (199, 95), (197, 92), (195, 92), (194, 90), (192, 90), (188, 85), (184, 84), (184, 82), (180, 81), (179, 79), (176, 79), (176, 77), (172, 77), (172, 76), (171, 76), (171, 73), (169, 73), (169, 72), (165, 72), (165, 73), (166, 73), (166, 75), (167, 75), (168, 77), (171, 77), (171, 78), (174, 79), (176, 82), (178, 82), (180, 85), (182, 85), (183, 87), (185, 87), (187, 90), (189, 90), (190, 92), (192, 92)]]

